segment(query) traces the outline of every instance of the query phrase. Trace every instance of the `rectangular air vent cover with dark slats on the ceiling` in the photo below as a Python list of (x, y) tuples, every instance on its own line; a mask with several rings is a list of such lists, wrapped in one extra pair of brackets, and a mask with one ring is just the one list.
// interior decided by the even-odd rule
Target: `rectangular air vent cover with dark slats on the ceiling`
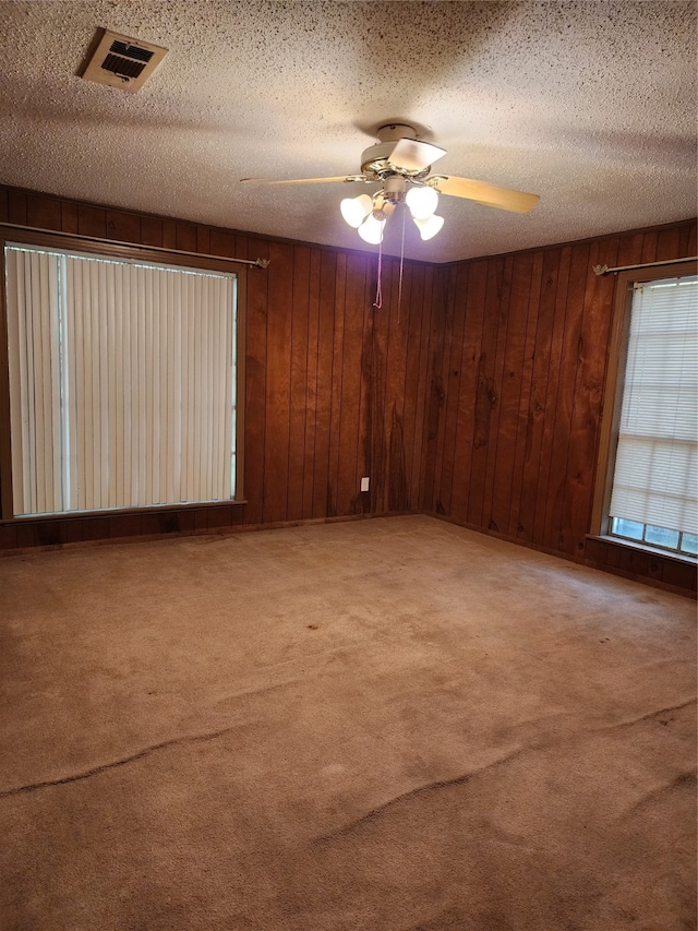
[(134, 93), (141, 89), (166, 55), (167, 49), (158, 45), (105, 29), (83, 77)]

